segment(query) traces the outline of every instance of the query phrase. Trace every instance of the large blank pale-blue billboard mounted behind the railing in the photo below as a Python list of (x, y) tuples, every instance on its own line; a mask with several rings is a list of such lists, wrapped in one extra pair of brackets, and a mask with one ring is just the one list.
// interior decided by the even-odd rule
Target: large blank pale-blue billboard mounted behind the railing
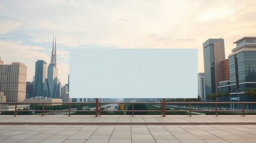
[(197, 98), (197, 49), (71, 49), (70, 98)]

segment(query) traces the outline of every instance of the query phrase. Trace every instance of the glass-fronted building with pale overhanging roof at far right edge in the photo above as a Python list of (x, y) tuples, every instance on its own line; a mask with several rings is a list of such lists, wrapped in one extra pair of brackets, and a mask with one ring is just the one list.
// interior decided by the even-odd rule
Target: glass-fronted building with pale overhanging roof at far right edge
[[(256, 88), (256, 36), (243, 37), (228, 55), (230, 66), (230, 94), (239, 96), (246, 88)], [(242, 101), (248, 101), (241, 96)]]

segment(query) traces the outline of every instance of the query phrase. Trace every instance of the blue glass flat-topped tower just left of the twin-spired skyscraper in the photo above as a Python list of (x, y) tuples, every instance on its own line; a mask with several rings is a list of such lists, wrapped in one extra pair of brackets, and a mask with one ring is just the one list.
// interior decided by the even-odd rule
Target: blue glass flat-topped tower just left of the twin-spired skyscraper
[(47, 63), (44, 60), (35, 62), (35, 79), (34, 79), (34, 96), (41, 97), (43, 95), (44, 81), (46, 80)]

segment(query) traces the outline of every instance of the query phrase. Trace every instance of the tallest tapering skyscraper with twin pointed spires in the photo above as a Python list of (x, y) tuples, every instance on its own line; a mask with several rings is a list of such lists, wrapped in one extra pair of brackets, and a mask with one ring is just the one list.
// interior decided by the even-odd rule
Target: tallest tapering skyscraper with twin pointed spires
[(53, 38), (52, 56), (47, 68), (47, 79), (43, 86), (43, 96), (49, 98), (60, 98), (61, 96), (61, 82), (58, 79), (57, 68), (56, 38)]

